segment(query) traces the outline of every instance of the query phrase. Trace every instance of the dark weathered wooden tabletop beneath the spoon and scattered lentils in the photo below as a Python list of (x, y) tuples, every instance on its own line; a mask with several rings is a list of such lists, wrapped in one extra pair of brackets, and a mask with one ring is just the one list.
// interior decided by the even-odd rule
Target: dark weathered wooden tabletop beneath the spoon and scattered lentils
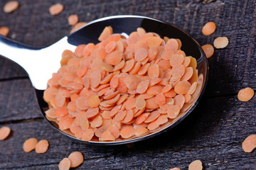
[[(2, 0), (0, 26), (8, 26), (9, 38), (18, 42), (46, 46), (68, 35), (70, 14), (78, 14), (80, 21), (134, 14), (172, 23), (201, 45), (212, 44), (218, 36), (228, 37), (230, 43), (208, 59), (206, 93), (188, 118), (164, 135), (111, 147), (81, 144), (50, 128), (26, 72), (0, 57), (0, 126), (12, 130), (7, 140), (0, 141), (0, 169), (58, 169), (60, 160), (73, 151), (85, 158), (77, 169), (188, 169), (196, 159), (205, 169), (256, 169), (256, 150), (245, 153), (241, 147), (245, 137), (256, 133), (256, 97), (248, 102), (237, 98), (246, 86), (256, 89), (256, 1), (65, 0), (63, 13), (50, 16), (48, 7), (56, 2), (23, 0), (17, 11), (4, 13)], [(217, 29), (204, 36), (201, 29), (208, 21), (214, 21)], [(29, 137), (48, 140), (48, 152), (23, 152)]]

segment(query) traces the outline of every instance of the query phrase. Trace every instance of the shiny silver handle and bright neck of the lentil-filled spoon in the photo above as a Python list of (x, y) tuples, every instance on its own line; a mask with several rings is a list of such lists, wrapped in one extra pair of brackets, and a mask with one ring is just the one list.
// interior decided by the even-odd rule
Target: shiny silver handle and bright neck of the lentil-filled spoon
[(58, 71), (61, 53), (65, 49), (75, 50), (75, 46), (68, 43), (67, 37), (53, 45), (40, 48), (23, 45), (0, 35), (0, 55), (23, 67), (33, 87), (38, 90), (46, 89), (48, 79)]

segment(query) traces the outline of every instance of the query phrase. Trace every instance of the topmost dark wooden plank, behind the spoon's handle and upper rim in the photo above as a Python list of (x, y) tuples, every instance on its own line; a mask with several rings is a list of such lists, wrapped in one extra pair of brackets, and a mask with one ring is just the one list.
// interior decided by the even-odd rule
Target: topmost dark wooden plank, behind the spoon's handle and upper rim
[[(1, 1), (0, 6), (5, 2)], [(255, 1), (215, 1), (210, 4), (203, 4), (202, 1), (103, 1), (102, 5), (98, 5), (100, 2), (80, 1), (73, 4), (63, 1), (63, 13), (50, 16), (48, 6), (53, 1), (22, 1), (14, 13), (0, 11), (0, 19), (2, 25), (11, 28), (10, 38), (34, 46), (50, 45), (68, 35), (70, 26), (66, 18), (70, 13), (78, 13), (80, 21), (125, 13), (151, 16), (186, 30), (202, 45), (213, 43), (218, 36), (227, 36), (230, 40), (228, 47), (216, 50), (209, 60), (208, 96), (235, 94), (245, 86), (256, 89), (253, 81), (256, 70), (250, 67), (256, 64), (256, 60), (252, 60), (255, 59), (256, 22), (252, 17), (256, 13)], [(115, 6), (114, 10), (112, 6)], [(201, 28), (208, 21), (215, 21), (217, 30), (206, 37), (202, 35)], [(0, 67), (0, 79), (26, 76), (24, 72), (20, 73), (20, 68), (15, 67), (10, 72), (12, 69), (6, 69), (9, 64), (7, 62), (3, 64), (5, 67)]]

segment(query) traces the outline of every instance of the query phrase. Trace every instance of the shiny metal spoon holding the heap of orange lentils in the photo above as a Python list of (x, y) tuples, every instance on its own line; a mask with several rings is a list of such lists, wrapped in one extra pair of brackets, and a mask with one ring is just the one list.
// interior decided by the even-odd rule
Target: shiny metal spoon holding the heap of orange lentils
[[(97, 43), (97, 38), (105, 26), (112, 26), (114, 33), (122, 33), (123, 35), (129, 35), (129, 33), (132, 33), (137, 30), (137, 28), (141, 27), (144, 28), (146, 32), (157, 33), (161, 38), (166, 36), (169, 38), (180, 39), (182, 42), (181, 50), (183, 50), (186, 55), (191, 55), (197, 60), (199, 85), (195, 94), (193, 94), (190, 103), (183, 106), (178, 118), (169, 120), (168, 123), (161, 125), (153, 132), (142, 135), (141, 137), (132, 137), (117, 142), (85, 142), (73, 137), (68, 132), (61, 131), (55, 122), (46, 118), (45, 111), (48, 108), (48, 104), (43, 101), (43, 91), (46, 89), (47, 81), (51, 78), (53, 72), (57, 72), (60, 68), (60, 59), (63, 50), (75, 50), (77, 45), (87, 44), (89, 42)], [(80, 30), (75, 31), (75, 33), (62, 38), (49, 47), (44, 48), (30, 47), (0, 36), (0, 55), (20, 64), (21, 67), (26, 70), (36, 91), (36, 98), (38, 106), (41, 109), (41, 113), (48, 123), (55, 128), (55, 130), (58, 130), (58, 132), (61, 132), (74, 140), (95, 145), (120, 145), (129, 142), (137, 142), (149, 137), (154, 137), (162, 132), (166, 132), (167, 130), (174, 128), (175, 125), (186, 118), (186, 116), (189, 115), (196, 107), (199, 99), (203, 95), (203, 91), (206, 89), (206, 82), (208, 80), (208, 62), (206, 55), (203, 53), (198, 42), (183, 30), (176, 28), (176, 26), (144, 16), (110, 16), (100, 18), (87, 23), (87, 25), (80, 28)]]

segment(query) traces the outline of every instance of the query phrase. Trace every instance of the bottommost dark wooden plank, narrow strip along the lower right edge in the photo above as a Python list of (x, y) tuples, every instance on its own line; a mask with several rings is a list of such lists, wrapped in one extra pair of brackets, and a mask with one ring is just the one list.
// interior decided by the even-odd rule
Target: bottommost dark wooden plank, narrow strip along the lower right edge
[[(225, 149), (223, 149), (225, 148)], [(179, 167), (188, 169), (195, 159), (203, 162), (205, 169), (255, 169), (255, 155), (237, 154), (240, 145), (208, 148), (191, 148), (182, 151), (166, 149), (166, 152), (123, 152), (115, 157), (85, 161), (83, 166), (88, 169), (171, 169)], [(209, 154), (218, 152), (218, 154)]]

